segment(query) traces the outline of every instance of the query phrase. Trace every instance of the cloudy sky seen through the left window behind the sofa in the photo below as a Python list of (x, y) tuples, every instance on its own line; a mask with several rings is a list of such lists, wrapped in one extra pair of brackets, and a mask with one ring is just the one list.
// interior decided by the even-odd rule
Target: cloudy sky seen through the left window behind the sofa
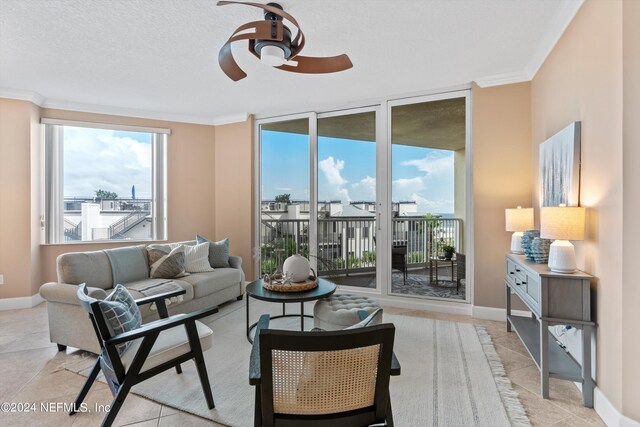
[(96, 190), (119, 197), (151, 197), (152, 134), (64, 127), (64, 195), (92, 197)]

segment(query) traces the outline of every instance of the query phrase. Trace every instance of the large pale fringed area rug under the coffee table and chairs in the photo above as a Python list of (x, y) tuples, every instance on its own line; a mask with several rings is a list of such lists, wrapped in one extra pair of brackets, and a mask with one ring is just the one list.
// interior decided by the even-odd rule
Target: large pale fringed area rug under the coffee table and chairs
[[(252, 301), (255, 317), (274, 309), (274, 304)], [(293, 329), (296, 321), (273, 323)], [(402, 374), (391, 378), (397, 426), (530, 425), (483, 327), (391, 314), (384, 321), (396, 326), (394, 351), (402, 366)], [(214, 344), (205, 359), (215, 409), (207, 408), (192, 362), (183, 364), (181, 375), (164, 372), (134, 387), (133, 393), (227, 426), (252, 426), (254, 389), (247, 378), (251, 345), (245, 337), (244, 305), (225, 307), (208, 324)], [(90, 362), (76, 358), (65, 368), (86, 376)]]

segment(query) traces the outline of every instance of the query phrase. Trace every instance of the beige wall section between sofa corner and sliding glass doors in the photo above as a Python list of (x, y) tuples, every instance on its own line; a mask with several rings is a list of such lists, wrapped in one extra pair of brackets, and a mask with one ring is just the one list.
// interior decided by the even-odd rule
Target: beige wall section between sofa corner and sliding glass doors
[(215, 139), (216, 236), (229, 237), (231, 252), (242, 256), (247, 279), (253, 280), (253, 117), (216, 126)]

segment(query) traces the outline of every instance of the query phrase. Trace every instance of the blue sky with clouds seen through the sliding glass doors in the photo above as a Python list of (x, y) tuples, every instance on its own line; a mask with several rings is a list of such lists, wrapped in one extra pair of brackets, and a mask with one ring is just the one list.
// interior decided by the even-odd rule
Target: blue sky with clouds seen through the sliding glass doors
[[(375, 156), (373, 142), (319, 137), (319, 200), (375, 200)], [(308, 200), (308, 159), (306, 135), (263, 131), (262, 198)], [(394, 145), (392, 181), (393, 201), (414, 200), (421, 213), (453, 212), (453, 152)]]

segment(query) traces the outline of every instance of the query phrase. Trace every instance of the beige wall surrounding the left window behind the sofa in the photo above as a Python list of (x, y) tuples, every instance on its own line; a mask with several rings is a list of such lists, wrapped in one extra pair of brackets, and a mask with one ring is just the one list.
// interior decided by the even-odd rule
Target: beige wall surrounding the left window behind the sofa
[(168, 240), (193, 239), (197, 233), (218, 237), (212, 215), (214, 126), (41, 110), (26, 101), (0, 99), (0, 274), (5, 275), (0, 298), (31, 296), (42, 283), (55, 280), (55, 260), (61, 253), (126, 245), (40, 245), (40, 117), (171, 129), (167, 144)]

